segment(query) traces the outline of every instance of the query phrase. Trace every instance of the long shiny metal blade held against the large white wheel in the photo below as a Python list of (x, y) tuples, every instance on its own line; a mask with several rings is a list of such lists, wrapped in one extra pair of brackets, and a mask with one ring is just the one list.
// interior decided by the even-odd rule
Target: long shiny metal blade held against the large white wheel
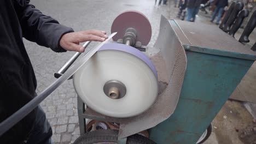
[(46, 97), (48, 97), (52, 92), (55, 91), (64, 81), (71, 77), (80, 67), (83, 66), (93, 55), (101, 48), (102, 45), (106, 44), (109, 39), (111, 39), (117, 32), (109, 35), (108, 39), (98, 44), (94, 49), (91, 49), (86, 55), (80, 59), (73, 67), (69, 68), (66, 73), (59, 77), (54, 83), (52, 83), (48, 88), (46, 88), (37, 97), (32, 99), (26, 105), (21, 107), (13, 115), (5, 119), (0, 123), (0, 136), (2, 136), (7, 130), (9, 130), (13, 125), (18, 123), (22, 118), (28, 115), (33, 109), (35, 109)]

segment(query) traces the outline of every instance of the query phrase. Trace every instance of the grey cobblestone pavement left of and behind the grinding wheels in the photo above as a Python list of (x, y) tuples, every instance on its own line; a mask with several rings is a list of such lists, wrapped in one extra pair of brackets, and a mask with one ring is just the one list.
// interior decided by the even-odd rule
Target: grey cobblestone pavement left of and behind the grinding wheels
[[(31, 3), (44, 14), (50, 15), (63, 25), (72, 27), (74, 31), (86, 29), (101, 29), (110, 33), (113, 20), (126, 10), (138, 10), (145, 14), (152, 24), (152, 47), (158, 37), (160, 16), (174, 16), (170, 7), (163, 5), (154, 7), (154, 0), (124, 1), (124, 0), (33, 0)], [(37, 77), (37, 93), (42, 92), (52, 82), (54, 73), (74, 54), (74, 52), (55, 53), (50, 49), (31, 43), (24, 39)], [(96, 43), (92, 43), (90, 47)], [(73, 143), (80, 135), (77, 112), (77, 95), (72, 80), (66, 81), (40, 104), (53, 128), (55, 143)]]

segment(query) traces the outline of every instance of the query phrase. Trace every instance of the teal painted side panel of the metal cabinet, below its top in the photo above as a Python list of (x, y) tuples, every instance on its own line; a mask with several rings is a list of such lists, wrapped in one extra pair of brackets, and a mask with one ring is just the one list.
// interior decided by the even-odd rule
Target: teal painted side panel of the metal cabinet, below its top
[(160, 144), (196, 143), (254, 62), (193, 51), (186, 54), (187, 71), (176, 110), (150, 130), (150, 139)]

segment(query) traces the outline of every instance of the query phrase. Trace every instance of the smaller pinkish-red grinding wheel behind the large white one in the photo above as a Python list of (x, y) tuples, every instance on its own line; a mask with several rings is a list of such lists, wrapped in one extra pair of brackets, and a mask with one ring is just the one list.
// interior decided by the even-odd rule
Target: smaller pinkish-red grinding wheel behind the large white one
[(118, 32), (113, 40), (123, 39), (127, 28), (134, 28), (137, 31), (137, 41), (140, 41), (142, 45), (148, 45), (152, 29), (149, 20), (145, 15), (139, 11), (126, 11), (115, 18), (112, 23), (111, 33)]

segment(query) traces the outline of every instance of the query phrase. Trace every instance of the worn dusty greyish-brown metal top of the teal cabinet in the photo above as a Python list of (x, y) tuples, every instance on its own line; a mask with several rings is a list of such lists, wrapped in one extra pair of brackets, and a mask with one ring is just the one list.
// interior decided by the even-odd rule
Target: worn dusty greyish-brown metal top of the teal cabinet
[[(238, 41), (232, 38), (229, 34), (220, 31), (218, 27), (187, 21), (176, 20), (176, 22), (178, 26), (181, 27), (185, 37), (190, 41), (191, 46), (193, 46), (190, 51), (203, 53), (218, 52), (212, 54), (252, 60), (256, 59), (256, 52), (252, 51), (251, 47), (238, 43)], [(184, 37), (184, 35), (179, 37)], [(182, 44), (187, 43), (182, 42)], [(200, 47), (206, 49), (202, 50)], [(213, 51), (208, 52), (211, 49)]]

